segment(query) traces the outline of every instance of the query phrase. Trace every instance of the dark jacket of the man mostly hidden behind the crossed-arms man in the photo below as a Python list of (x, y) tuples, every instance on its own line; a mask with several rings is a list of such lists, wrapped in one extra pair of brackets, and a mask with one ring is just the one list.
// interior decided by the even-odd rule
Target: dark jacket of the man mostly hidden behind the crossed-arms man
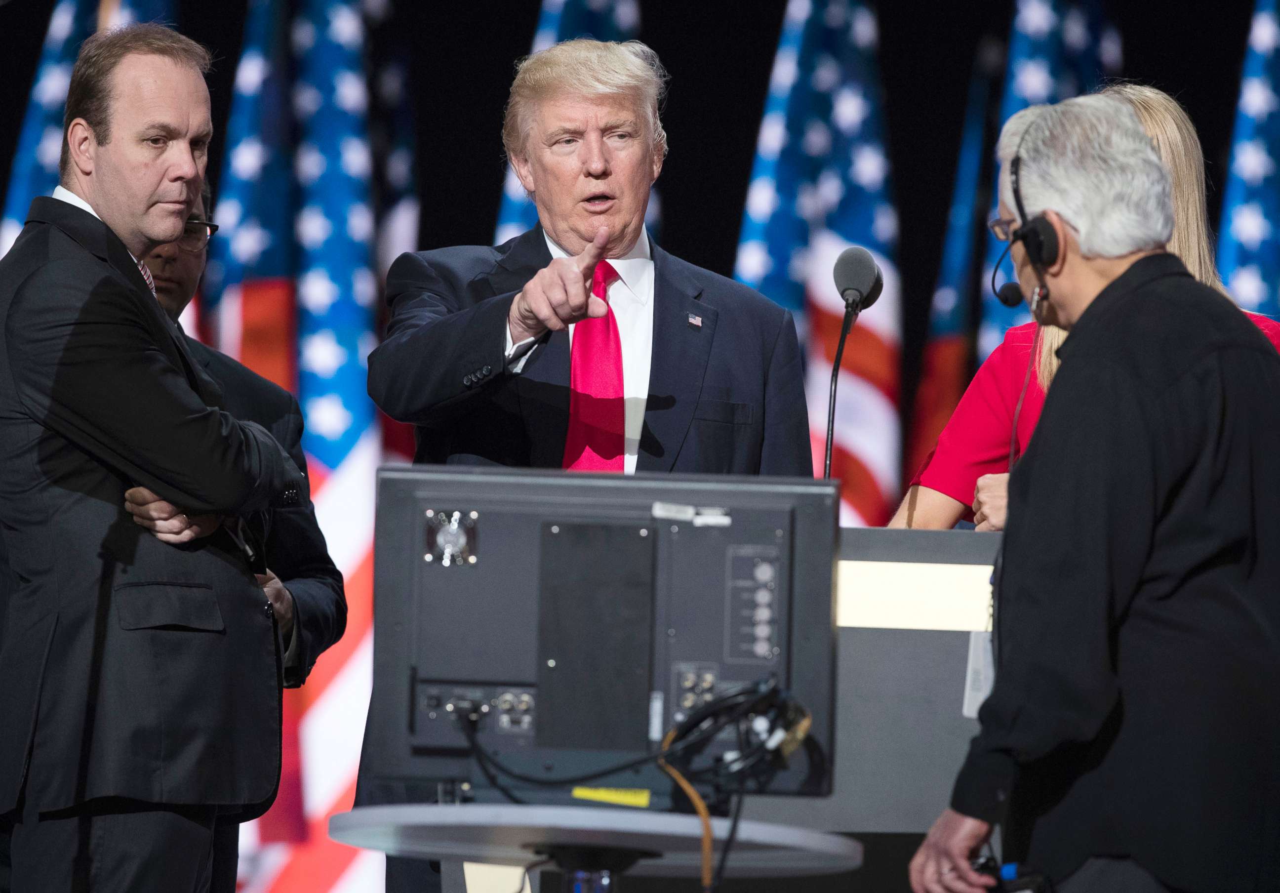
[[(227, 412), (257, 422), (284, 446), (293, 464), (306, 468), (302, 454), (302, 411), (293, 394), (193, 338), (187, 348), (196, 362), (223, 388)], [(266, 567), (293, 596), (293, 635), (297, 661), (284, 665), (284, 687), (306, 682), (320, 654), (342, 638), (347, 628), (347, 597), (342, 573), (325, 548), (310, 494), (298, 505), (255, 512), (251, 527), (264, 544)]]

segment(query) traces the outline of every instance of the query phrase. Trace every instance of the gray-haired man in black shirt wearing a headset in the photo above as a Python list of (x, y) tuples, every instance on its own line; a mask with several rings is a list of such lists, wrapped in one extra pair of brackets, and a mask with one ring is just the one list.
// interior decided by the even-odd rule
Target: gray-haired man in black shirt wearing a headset
[(1010, 480), (996, 684), (911, 888), (993, 887), (970, 860), (1000, 823), (1059, 893), (1280, 889), (1280, 356), (1164, 251), (1126, 104), (1033, 106), (998, 154), (995, 226), (1070, 335)]

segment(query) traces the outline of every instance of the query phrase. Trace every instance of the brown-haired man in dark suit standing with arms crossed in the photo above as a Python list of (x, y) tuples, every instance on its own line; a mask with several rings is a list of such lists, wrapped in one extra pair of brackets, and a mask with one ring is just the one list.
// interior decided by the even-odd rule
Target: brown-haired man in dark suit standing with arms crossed
[[(86, 41), (63, 186), (0, 260), (0, 816), (23, 893), (209, 889), (218, 820), (279, 779), (276, 610), (243, 528), (188, 522), (300, 505), (306, 481), (221, 409), (137, 260), (198, 194), (207, 68), (159, 26)], [(136, 486), (184, 507), (188, 541), (134, 523)]]

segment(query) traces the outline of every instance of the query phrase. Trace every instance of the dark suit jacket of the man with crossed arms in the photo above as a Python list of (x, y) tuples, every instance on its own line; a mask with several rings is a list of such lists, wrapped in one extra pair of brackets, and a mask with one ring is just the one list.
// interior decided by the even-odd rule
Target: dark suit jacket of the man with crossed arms
[(221, 411), (124, 244), (32, 202), (0, 260), (0, 814), (91, 797), (247, 807), (275, 796), (274, 615), (230, 536), (132, 522), (142, 485), (195, 512), (301, 503), (271, 435)]

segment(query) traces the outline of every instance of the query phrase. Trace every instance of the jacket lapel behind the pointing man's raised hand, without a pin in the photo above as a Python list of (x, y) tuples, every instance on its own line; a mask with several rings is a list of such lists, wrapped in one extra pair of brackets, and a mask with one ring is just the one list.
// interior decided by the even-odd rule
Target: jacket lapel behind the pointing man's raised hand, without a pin
[[(493, 297), (518, 292), (552, 262), (541, 226), (507, 243), (485, 283)], [(559, 468), (568, 432), (570, 347), (567, 331), (549, 331), (538, 339), (516, 381), (520, 413), (529, 432), (529, 463)]]

